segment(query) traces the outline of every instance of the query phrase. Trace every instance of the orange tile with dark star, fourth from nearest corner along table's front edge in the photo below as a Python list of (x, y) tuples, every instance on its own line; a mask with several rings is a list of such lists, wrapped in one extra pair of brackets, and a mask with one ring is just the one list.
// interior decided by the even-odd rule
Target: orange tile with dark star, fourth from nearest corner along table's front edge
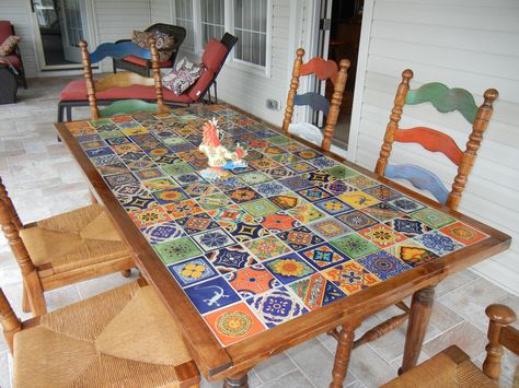
[(322, 274), (337, 285), (346, 295), (355, 294), (380, 282), (379, 278), (355, 260), (343, 262), (323, 271)]

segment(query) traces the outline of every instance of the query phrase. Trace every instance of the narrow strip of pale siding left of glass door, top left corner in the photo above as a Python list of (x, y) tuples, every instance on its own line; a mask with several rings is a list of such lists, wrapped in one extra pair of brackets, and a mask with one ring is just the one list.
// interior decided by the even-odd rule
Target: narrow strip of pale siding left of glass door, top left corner
[(37, 72), (36, 49), (31, 26), (28, 1), (0, 0), (0, 20), (8, 20), (14, 25), (16, 35), (22, 38), (19, 45), (22, 51), (25, 74), (26, 77), (35, 77)]

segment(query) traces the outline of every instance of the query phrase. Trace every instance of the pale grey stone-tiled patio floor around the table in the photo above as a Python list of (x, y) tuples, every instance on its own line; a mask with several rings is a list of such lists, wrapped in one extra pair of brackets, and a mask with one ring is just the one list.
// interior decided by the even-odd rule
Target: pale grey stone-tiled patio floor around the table
[[(0, 105), (0, 176), (24, 222), (49, 216), (89, 203), (86, 184), (66, 148), (56, 142), (57, 96), (67, 78), (30, 80), (27, 91), (19, 91), (20, 102)], [(76, 118), (88, 117), (82, 109)], [(136, 274), (132, 275), (132, 279)], [(89, 297), (128, 280), (105, 277), (48, 293), (50, 310)], [(0, 237), (0, 285), (14, 309), (21, 314), (21, 275), (11, 251)], [(478, 364), (484, 358), (486, 316), (491, 303), (505, 303), (519, 311), (519, 297), (465, 270), (437, 286), (437, 301), (420, 361), (455, 343)], [(371, 317), (358, 334), (389, 314)], [(376, 387), (396, 376), (402, 361), (405, 326), (354, 351), (345, 386)], [(326, 336), (305, 342), (256, 366), (250, 374), (251, 387), (327, 387), (335, 341)], [(505, 357), (503, 386), (511, 386), (518, 357)], [(0, 340), (0, 387), (10, 387), (12, 360)], [(219, 384), (204, 381), (203, 387)]]

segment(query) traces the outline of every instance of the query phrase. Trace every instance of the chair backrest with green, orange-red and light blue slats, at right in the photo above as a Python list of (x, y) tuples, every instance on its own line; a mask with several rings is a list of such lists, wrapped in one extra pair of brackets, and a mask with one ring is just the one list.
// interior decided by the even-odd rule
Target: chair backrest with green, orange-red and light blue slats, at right
[[(495, 89), (484, 93), (484, 102), (477, 107), (472, 94), (464, 89), (449, 89), (442, 83), (432, 82), (410, 90), (413, 71), (406, 69), (402, 72), (402, 82), (396, 90), (394, 106), (391, 110), (390, 121), (385, 128), (384, 140), (380, 150), (374, 172), (390, 179), (405, 179), (414, 187), (427, 190), (438, 200), (452, 210), (460, 203), (461, 195), (465, 188), (466, 179), (476, 158), (477, 150), (483, 140), (488, 121), (492, 116), (492, 104), (497, 98)], [(404, 105), (417, 105), (429, 102), (440, 113), (458, 110), (470, 124), (472, 132), (469, 136), (465, 151), (461, 151), (455, 141), (448, 134), (427, 127), (401, 129), (399, 122), (402, 118)], [(394, 141), (403, 143), (418, 143), (430, 152), (443, 153), (458, 166), (452, 189), (449, 191), (440, 179), (428, 169), (415, 165), (389, 165)]]

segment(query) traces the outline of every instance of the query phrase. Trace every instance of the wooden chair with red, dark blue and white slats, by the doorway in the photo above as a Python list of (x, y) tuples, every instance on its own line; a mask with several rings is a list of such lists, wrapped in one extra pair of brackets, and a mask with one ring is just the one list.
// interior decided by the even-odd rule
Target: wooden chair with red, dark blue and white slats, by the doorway
[[(314, 57), (303, 63), (302, 57), (304, 49), (299, 48), (293, 61), (292, 78), (288, 91), (287, 107), (285, 109), (285, 119), (282, 120), (282, 130), (286, 133), (292, 133), (304, 140), (308, 140), (323, 150), (328, 151), (332, 145), (332, 138), (337, 124), (337, 118), (343, 102), (344, 87), (347, 81), (347, 71), (349, 60), (341, 60), (339, 66), (332, 60), (324, 60), (321, 57)], [(314, 92), (297, 94), (299, 78), (301, 75), (315, 74), (319, 80), (330, 80), (334, 85), (332, 101), (328, 103), (326, 97)], [(323, 131), (308, 122), (291, 124), (293, 106), (308, 105), (314, 111), (322, 111), (326, 116), (326, 124)]]

